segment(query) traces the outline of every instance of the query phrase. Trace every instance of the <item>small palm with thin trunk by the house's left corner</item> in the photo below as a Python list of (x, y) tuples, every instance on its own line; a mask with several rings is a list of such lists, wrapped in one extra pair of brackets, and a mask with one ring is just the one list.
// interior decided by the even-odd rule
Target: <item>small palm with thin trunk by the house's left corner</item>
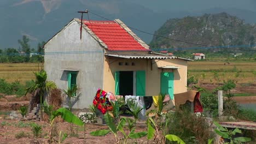
[(44, 93), (50, 92), (52, 89), (56, 88), (56, 84), (53, 81), (46, 81), (47, 74), (46, 71), (42, 70), (34, 73), (36, 80), (31, 87), (26, 88), (27, 93), (39, 93), (40, 97), (40, 111), (41, 119), (43, 118), (43, 97)]

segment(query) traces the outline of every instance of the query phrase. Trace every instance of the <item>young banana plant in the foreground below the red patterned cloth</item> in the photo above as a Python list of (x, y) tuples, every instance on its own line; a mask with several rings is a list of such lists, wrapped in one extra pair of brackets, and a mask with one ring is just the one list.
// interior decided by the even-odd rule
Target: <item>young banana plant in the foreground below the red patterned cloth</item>
[[(139, 139), (139, 138), (147, 135), (147, 131), (141, 131), (141, 132), (135, 133), (135, 129), (136, 129), (135, 127), (131, 128), (131, 129), (129, 128), (130, 132), (129, 132), (129, 134), (126, 134), (125, 133), (126, 122), (131, 122), (129, 120), (129, 118), (121, 118), (117, 125), (114, 123), (114, 119), (113, 119), (113, 117), (111, 117), (109, 115), (109, 113), (106, 113), (104, 118), (105, 118), (105, 121), (108, 125), (108, 130), (92, 131), (90, 133), (90, 135), (92, 135), (92, 136), (103, 136), (103, 135), (107, 135), (109, 132), (111, 132), (115, 136), (115, 143), (119, 143), (119, 137), (118, 137), (117, 133), (118, 133), (118, 131), (120, 131), (123, 134), (122, 140), (124, 141), (124, 144), (127, 143), (127, 140), (129, 138), (130, 139)], [(128, 124), (128, 125), (130, 125), (130, 124)]]

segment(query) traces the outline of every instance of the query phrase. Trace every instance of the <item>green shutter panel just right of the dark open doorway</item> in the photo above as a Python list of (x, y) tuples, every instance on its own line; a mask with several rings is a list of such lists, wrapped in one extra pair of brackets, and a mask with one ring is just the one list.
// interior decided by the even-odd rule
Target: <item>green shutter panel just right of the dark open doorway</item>
[(145, 71), (136, 71), (136, 95), (146, 95), (146, 73)]

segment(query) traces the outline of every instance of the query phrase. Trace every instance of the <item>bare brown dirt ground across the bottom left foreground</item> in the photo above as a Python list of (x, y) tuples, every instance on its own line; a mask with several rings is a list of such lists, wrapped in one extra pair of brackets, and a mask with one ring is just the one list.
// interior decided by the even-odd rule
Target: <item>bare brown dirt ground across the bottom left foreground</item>
[[(42, 125), (43, 133), (39, 138), (33, 138), (33, 133), (31, 131), (30, 123), (37, 123)], [(73, 130), (71, 130), (71, 127)], [(105, 136), (91, 136), (89, 133), (91, 131), (107, 129), (106, 125), (95, 125), (95, 124), (87, 124), (86, 132), (85, 132), (85, 140), (84, 140), (84, 127), (78, 127), (75, 125), (71, 125), (67, 122), (56, 123), (56, 127), (53, 129), (53, 134), (56, 140), (59, 140), (59, 131), (62, 131), (62, 134), (67, 133), (68, 137), (63, 143), (115, 143), (115, 138), (112, 133), (109, 133)], [(36, 122), (36, 121), (13, 121), (0, 119), (0, 143), (48, 143), (47, 137), (49, 124), (46, 122)], [(146, 130), (145, 126), (138, 126), (136, 131), (144, 131)], [(25, 136), (19, 138), (19, 134), (24, 131)], [(57, 132), (58, 131), (58, 132)], [(21, 134), (20, 134), (21, 135)], [(119, 134), (121, 137), (121, 134)], [(142, 137), (141, 139), (133, 140), (129, 139), (129, 143), (152, 143), (152, 141), (148, 141), (147, 137)]]

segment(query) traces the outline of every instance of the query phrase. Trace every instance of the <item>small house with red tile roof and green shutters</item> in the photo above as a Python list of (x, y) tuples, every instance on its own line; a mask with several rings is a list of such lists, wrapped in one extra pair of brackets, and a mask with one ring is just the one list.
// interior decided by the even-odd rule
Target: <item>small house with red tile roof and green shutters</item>
[(44, 50), (48, 80), (61, 89), (80, 88), (76, 109), (88, 108), (98, 88), (115, 95), (153, 96), (161, 92), (172, 99), (175, 93), (187, 91), (191, 60), (150, 50), (119, 19), (73, 19)]

